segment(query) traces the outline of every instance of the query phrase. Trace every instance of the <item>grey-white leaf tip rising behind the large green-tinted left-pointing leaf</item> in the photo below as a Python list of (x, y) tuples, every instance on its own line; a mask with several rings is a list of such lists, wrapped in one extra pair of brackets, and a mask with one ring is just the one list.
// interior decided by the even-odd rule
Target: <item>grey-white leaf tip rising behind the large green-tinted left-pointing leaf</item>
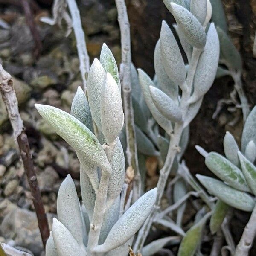
[(89, 103), (80, 86), (77, 88), (76, 95), (73, 99), (70, 114), (93, 132), (93, 119), (90, 113)]

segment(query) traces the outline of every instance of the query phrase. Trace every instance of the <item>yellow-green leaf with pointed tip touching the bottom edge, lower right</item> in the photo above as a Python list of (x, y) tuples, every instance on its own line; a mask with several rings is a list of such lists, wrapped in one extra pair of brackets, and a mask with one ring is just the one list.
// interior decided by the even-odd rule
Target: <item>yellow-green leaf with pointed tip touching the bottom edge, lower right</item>
[(204, 218), (186, 232), (180, 243), (178, 256), (194, 256), (196, 249), (201, 243), (203, 227), (207, 218), (209, 218), (209, 214), (207, 213)]

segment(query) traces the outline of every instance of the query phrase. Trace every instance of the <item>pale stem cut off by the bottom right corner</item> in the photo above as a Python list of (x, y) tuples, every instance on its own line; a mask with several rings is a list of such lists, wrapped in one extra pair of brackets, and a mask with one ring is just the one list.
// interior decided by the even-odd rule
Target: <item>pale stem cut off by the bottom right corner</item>
[(256, 206), (250, 216), (248, 223), (244, 228), (244, 232), (236, 247), (234, 256), (247, 256), (250, 248), (253, 246), (253, 239), (256, 236)]

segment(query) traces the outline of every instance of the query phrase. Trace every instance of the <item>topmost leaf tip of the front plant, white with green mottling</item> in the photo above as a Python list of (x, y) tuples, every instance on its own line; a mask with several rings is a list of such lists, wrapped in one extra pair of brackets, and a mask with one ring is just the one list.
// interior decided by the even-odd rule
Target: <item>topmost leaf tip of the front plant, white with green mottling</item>
[(116, 84), (119, 88), (119, 91), (121, 93), (121, 83), (120, 83), (120, 79), (119, 79), (119, 72), (118, 72), (116, 60), (115, 60), (111, 50), (108, 48), (108, 46), (105, 43), (102, 45), (102, 50), (100, 53), (99, 61), (102, 64), (102, 66), (104, 67), (105, 71), (109, 72), (111, 74), (111, 76), (113, 76), (113, 78), (115, 79)]

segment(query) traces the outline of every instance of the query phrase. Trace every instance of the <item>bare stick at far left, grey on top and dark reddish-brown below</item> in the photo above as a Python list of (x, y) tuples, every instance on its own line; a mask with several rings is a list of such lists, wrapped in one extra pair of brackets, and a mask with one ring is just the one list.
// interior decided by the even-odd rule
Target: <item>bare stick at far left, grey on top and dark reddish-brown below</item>
[(0, 64), (0, 91), (6, 109), (9, 115), (10, 122), (14, 131), (15, 140), (20, 148), (20, 155), (26, 176), (29, 181), (29, 186), (32, 193), (32, 201), (35, 206), (35, 212), (38, 218), (38, 226), (41, 233), (41, 238), (45, 246), (49, 237), (49, 226), (47, 216), (44, 210), (44, 204), (41, 198), (41, 193), (38, 186), (38, 180), (35, 174), (32, 155), (30, 153), (29, 142), (26, 132), (23, 127), (23, 121), (20, 118), (19, 108), (15, 90), (13, 88), (12, 77), (7, 73)]

